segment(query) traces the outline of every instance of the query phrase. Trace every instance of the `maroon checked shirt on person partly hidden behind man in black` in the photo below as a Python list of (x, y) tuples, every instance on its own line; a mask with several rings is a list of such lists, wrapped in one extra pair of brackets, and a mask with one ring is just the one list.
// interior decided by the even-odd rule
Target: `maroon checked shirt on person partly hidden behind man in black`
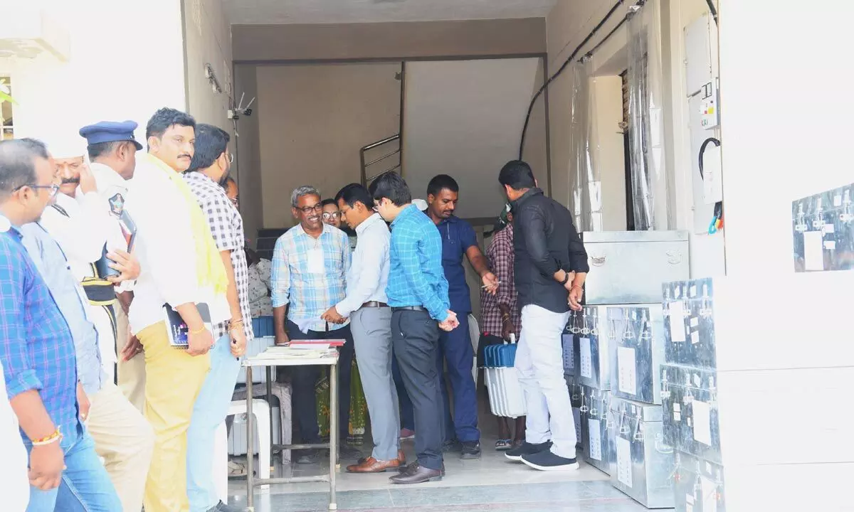
[(515, 273), (513, 271), (513, 226), (507, 224), (503, 230), (495, 232), (492, 243), (486, 250), (489, 268), (499, 280), (498, 292), (494, 295), (481, 291), (481, 329), (484, 333), (500, 336), (504, 327), (499, 305), (510, 310), (510, 321), (516, 328), (516, 339), (522, 331), (522, 319), (516, 294)]

